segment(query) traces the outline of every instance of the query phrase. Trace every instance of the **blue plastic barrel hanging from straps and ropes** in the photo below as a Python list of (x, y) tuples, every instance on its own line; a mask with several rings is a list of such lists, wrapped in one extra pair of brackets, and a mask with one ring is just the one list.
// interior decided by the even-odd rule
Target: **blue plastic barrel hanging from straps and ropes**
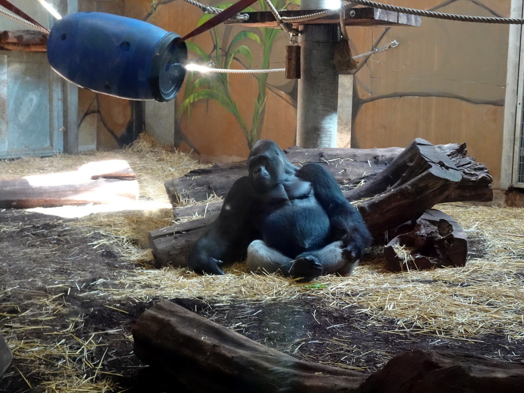
[(54, 71), (98, 93), (130, 100), (172, 100), (185, 78), (188, 50), (174, 32), (99, 12), (57, 20), (47, 42)]

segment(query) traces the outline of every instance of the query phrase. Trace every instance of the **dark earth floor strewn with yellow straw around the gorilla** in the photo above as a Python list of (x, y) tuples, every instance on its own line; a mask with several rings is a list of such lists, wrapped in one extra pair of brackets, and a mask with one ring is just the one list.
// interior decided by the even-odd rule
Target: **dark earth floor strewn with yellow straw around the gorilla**
[(147, 234), (172, 220), (163, 181), (200, 165), (150, 138), (123, 151), (0, 161), (0, 173), (110, 158), (137, 173), (138, 210), (77, 219), (42, 214), (59, 213), (53, 209), (0, 212), (0, 334), (15, 356), (0, 390), (140, 391), (130, 325), (151, 301), (173, 298), (193, 299), (185, 302), (202, 315), (294, 356), (357, 370), (422, 345), (523, 359), (524, 209), (436, 206), (471, 239), (464, 268), (391, 274), (370, 250), (350, 278), (297, 284), (252, 275), (243, 264), (221, 277), (152, 268)]

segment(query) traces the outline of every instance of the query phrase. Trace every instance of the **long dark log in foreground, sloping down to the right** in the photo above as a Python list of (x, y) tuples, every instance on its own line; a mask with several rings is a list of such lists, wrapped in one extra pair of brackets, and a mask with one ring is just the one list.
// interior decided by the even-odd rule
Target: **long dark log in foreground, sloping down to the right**
[(349, 393), (365, 379), (272, 350), (168, 300), (145, 311), (132, 332), (141, 361), (195, 393)]

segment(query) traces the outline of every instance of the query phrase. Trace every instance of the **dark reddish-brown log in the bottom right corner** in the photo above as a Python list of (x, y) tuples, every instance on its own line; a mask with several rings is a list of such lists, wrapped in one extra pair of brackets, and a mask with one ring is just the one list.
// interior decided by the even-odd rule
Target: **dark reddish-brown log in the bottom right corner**
[(460, 352), (414, 350), (392, 358), (358, 393), (515, 393), (524, 364)]

